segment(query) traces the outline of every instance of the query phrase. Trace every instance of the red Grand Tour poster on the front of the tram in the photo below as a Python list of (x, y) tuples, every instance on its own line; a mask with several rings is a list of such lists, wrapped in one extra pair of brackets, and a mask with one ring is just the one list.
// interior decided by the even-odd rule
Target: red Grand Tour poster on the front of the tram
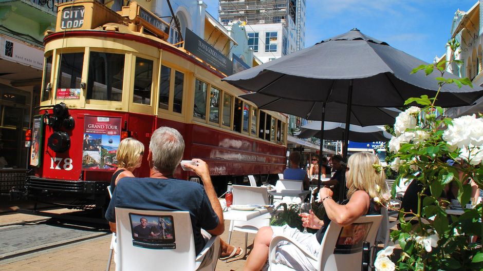
[(121, 118), (86, 115), (82, 142), (83, 170), (115, 170)]

